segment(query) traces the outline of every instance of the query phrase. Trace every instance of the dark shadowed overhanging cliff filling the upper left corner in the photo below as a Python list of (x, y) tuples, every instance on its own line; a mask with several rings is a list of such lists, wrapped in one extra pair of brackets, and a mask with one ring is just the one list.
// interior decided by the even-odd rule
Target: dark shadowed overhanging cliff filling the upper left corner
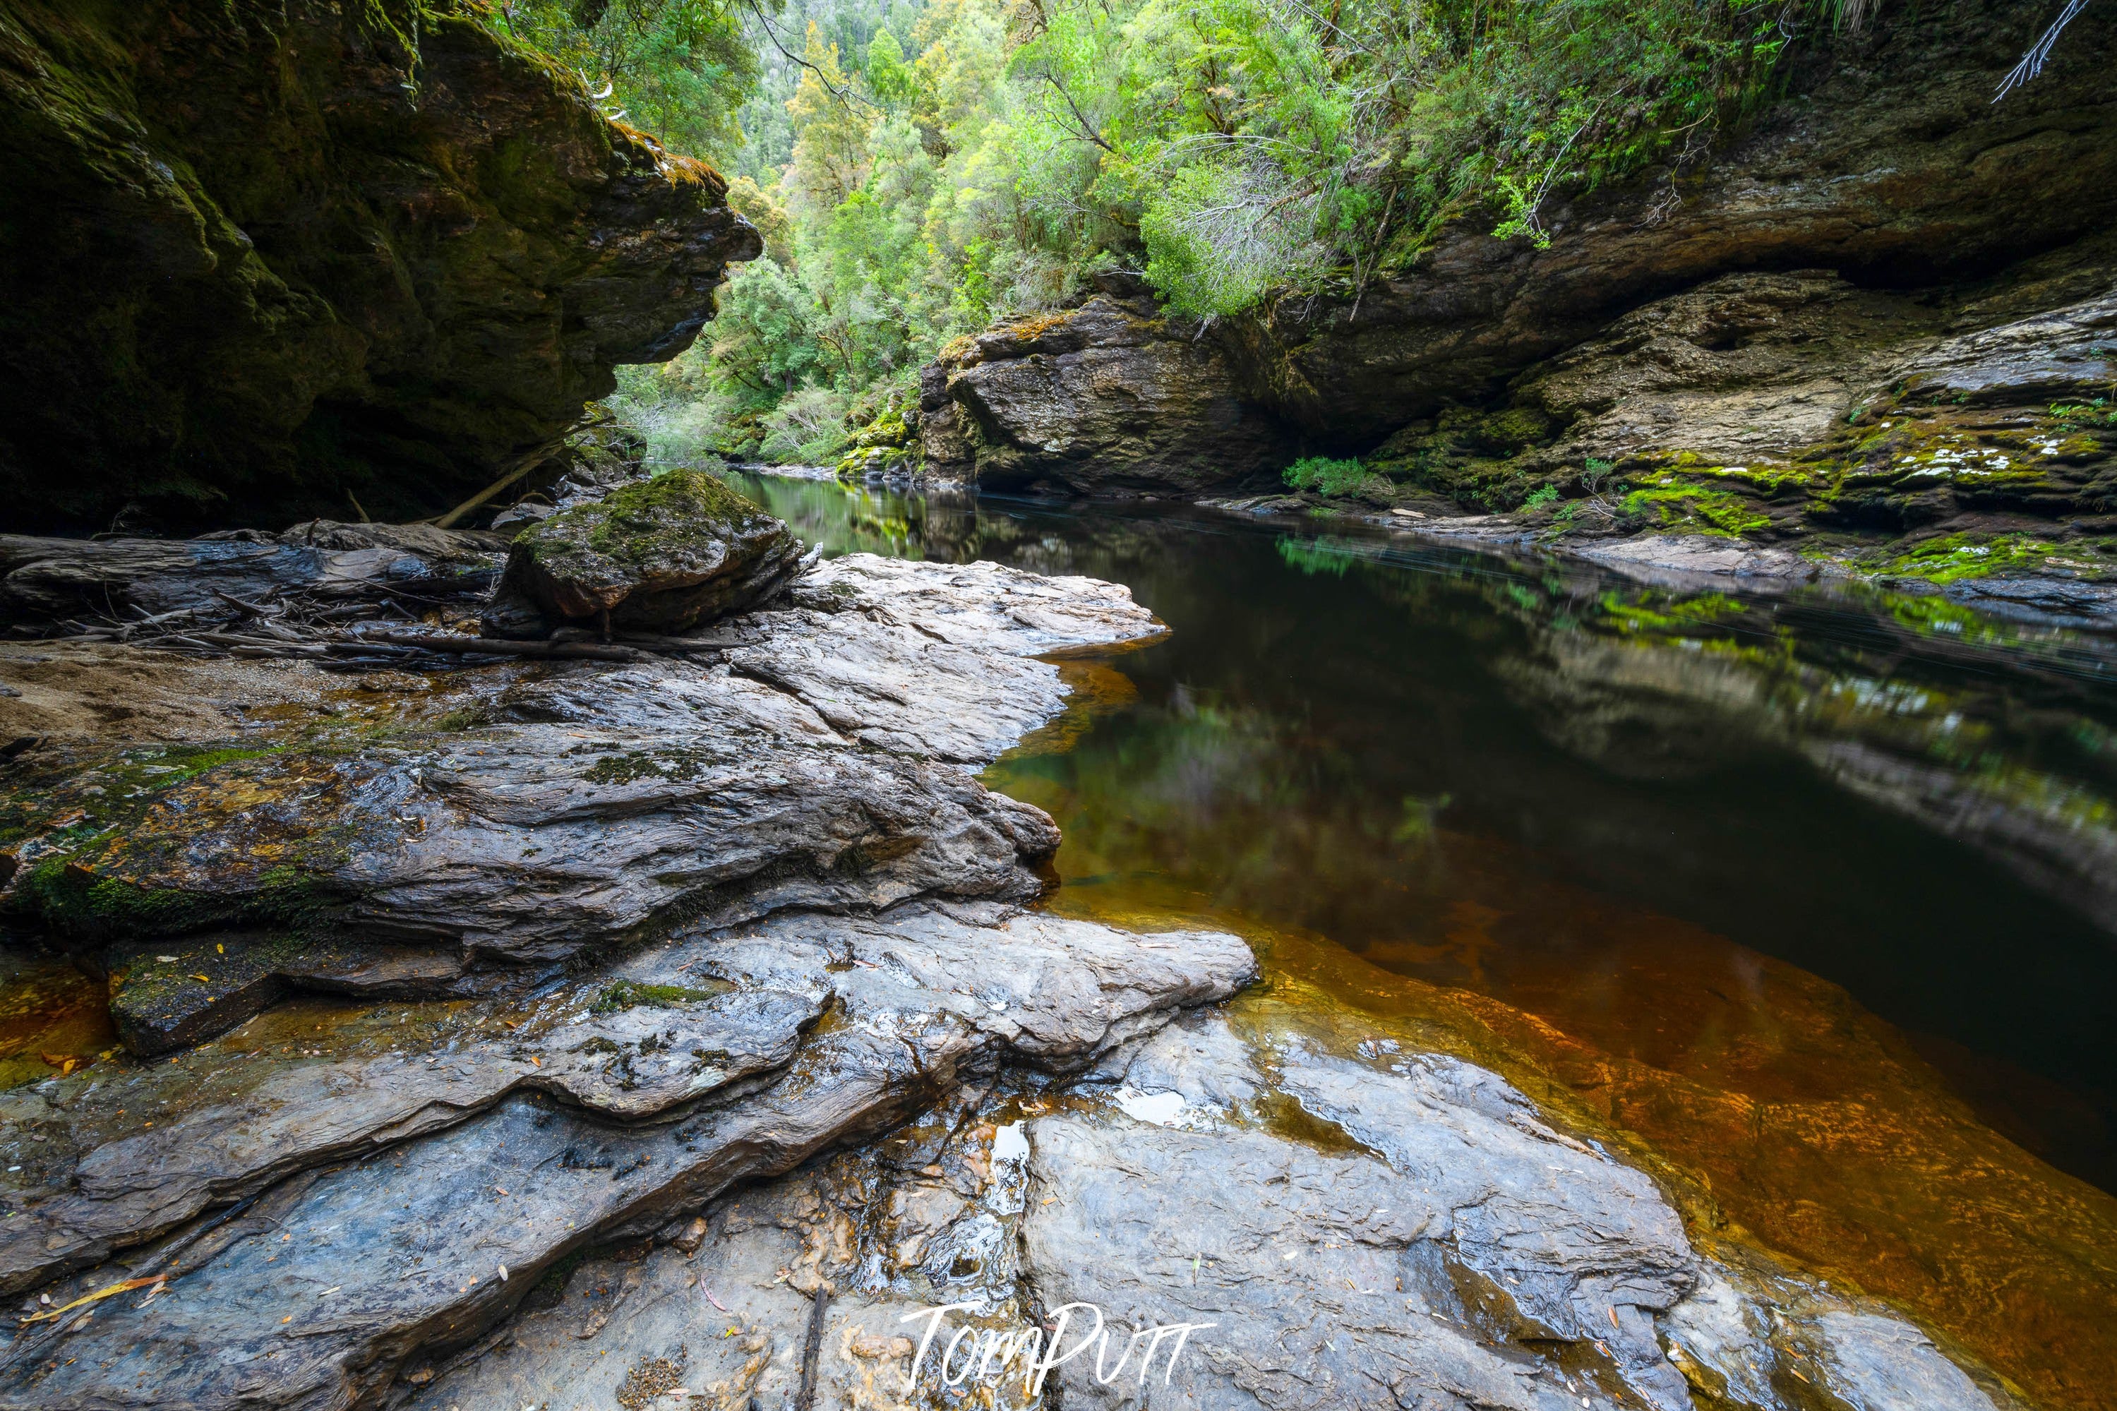
[(0, 186), (17, 529), (445, 510), (760, 250), (468, 0), (17, 0)]

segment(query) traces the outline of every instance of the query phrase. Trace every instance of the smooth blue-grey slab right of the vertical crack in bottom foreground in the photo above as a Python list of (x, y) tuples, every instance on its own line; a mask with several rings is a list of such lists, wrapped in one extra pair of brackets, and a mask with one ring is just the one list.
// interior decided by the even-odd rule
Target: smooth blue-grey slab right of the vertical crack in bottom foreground
[[(1103, 1064), (1109, 1106), (1029, 1125), (1037, 1303), (1213, 1324), (1177, 1362), (1183, 1405), (1778, 1411), (1829, 1383), (1992, 1409), (1888, 1309), (1698, 1254), (1643, 1172), (1497, 1075), (1272, 1009), (1173, 1026)], [(1056, 1373), (1067, 1405), (1128, 1405), (1133, 1377), (1090, 1360)]]

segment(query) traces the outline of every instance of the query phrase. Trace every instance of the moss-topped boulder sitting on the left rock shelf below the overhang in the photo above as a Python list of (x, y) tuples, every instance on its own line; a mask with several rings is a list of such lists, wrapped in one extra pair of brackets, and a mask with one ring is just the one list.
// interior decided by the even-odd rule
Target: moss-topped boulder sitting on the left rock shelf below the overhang
[[(493, 622), (680, 633), (771, 599), (800, 567), (781, 520), (696, 470), (561, 510), (514, 539)], [(493, 630), (489, 626), (489, 630)]]

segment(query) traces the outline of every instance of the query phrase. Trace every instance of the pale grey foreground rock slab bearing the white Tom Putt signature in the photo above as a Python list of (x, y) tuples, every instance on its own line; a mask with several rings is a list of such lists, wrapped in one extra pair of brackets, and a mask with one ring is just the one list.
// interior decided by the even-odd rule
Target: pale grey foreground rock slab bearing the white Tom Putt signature
[[(1888, 1309), (1696, 1250), (1492, 1073), (1287, 1018), (1245, 1001), (1086, 1079), (970, 1085), (553, 1280), (413, 1405), (2013, 1405)], [(1101, 1322), (1073, 1307), (1052, 1348), (1067, 1303)]]

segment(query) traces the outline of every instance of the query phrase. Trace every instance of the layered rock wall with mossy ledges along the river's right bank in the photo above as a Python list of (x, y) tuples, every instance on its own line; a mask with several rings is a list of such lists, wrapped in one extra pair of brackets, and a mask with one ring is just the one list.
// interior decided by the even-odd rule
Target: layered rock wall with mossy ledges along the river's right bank
[(2113, 21), (1992, 104), (2034, 23), (1840, 36), (1725, 150), (1548, 212), (1545, 250), (1465, 218), (1359, 292), (1211, 326), (1105, 279), (944, 349), (927, 474), (1302, 512), (1279, 472), (1357, 455), (1332, 503), (1406, 533), (2106, 626)]

